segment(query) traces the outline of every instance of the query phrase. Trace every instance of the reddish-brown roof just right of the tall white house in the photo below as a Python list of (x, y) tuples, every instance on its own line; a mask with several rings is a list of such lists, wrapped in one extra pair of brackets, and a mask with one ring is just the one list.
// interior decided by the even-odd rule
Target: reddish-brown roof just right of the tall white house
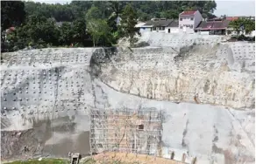
[(224, 30), (228, 27), (231, 21), (202, 21), (197, 27), (196, 30)]

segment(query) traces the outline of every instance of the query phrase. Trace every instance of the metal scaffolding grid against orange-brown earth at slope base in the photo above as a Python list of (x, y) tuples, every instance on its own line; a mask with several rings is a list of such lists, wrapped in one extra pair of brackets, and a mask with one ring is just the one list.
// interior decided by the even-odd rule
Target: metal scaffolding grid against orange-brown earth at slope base
[(161, 156), (162, 113), (146, 109), (91, 109), (92, 154), (118, 151)]

